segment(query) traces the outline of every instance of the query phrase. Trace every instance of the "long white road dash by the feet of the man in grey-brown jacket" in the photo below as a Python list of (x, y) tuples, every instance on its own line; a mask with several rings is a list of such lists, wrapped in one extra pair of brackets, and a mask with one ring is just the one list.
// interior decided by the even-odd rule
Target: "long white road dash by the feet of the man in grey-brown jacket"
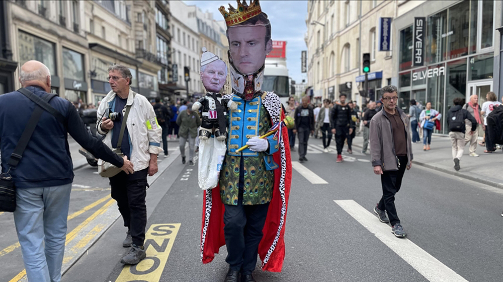
[(373, 233), (392, 251), (410, 264), (417, 272), (431, 282), (468, 282), (451, 268), (431, 254), (404, 238), (398, 239), (391, 233), (391, 228), (382, 224), (368, 210), (354, 200), (334, 200), (346, 212)]

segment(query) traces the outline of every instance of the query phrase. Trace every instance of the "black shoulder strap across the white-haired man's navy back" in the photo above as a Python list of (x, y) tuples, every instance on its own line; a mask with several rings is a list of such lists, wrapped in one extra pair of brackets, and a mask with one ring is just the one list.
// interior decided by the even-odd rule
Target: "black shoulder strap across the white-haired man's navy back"
[[(33, 93), (31, 94), (35, 96)], [(40, 99), (42, 102), (49, 104), (48, 102), (55, 96), (56, 94), (48, 93), (48, 95), (46, 95), (43, 99), (37, 96), (35, 97)], [(16, 145), (16, 149), (14, 149), (14, 152), (11, 154), (11, 158), (9, 159), (8, 164), (11, 169), (16, 169), (19, 162), (21, 161), (21, 157), (23, 156), (26, 146), (28, 146), (28, 143), (30, 142), (30, 138), (33, 134), (33, 131), (35, 131), (35, 127), (37, 127), (37, 123), (40, 120), (40, 116), (42, 115), (43, 112), (44, 109), (42, 109), (40, 106), (35, 106), (35, 110), (33, 111), (30, 119), (28, 120), (28, 123), (25, 126), (25, 130), (21, 134), (21, 138), (19, 138), (18, 144)]]

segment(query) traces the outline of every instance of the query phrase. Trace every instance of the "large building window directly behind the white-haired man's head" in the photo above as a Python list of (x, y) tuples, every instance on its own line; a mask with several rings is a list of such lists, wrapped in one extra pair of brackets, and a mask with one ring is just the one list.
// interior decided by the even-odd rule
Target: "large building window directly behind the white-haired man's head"
[(56, 45), (21, 30), (18, 36), (20, 65), (37, 60), (49, 68), (51, 76), (56, 76)]

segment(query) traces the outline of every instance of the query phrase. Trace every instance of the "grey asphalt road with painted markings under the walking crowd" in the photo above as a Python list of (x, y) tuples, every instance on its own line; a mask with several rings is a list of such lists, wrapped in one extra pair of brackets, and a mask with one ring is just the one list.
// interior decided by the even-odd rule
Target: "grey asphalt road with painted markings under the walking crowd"
[[(444, 281), (501, 281), (503, 190), (413, 166), (396, 197), (408, 233), (407, 239), (398, 239), (371, 214), (381, 187), (369, 156), (355, 153), (337, 164), (335, 154), (318, 150), (321, 140), (311, 138), (309, 144), (309, 161), (293, 170), (283, 271), (263, 272), (259, 260), (254, 272), (258, 281), (441, 281), (443, 277), (447, 277)], [(297, 152), (292, 154), (297, 161)], [(74, 184), (108, 188), (107, 181), (93, 172), (77, 170)], [(313, 175), (327, 183), (312, 184)], [(70, 214), (110, 192), (75, 188)], [(202, 203), (197, 166), (182, 165), (178, 157), (147, 192), (147, 239), (152, 238), (153, 228), (169, 230), (164, 237), (152, 239), (155, 244), (147, 253), (156, 258), (133, 269), (120, 264), (127, 250), (121, 245), (126, 229), (119, 219), (83, 252), (63, 281), (222, 281), (227, 271), (225, 247), (213, 262), (199, 261)], [(116, 204), (110, 209), (116, 210)], [(68, 230), (93, 210), (70, 220)], [(9, 218), (0, 215), (5, 227), (0, 249), (17, 239)], [(19, 248), (0, 256), (0, 263), (4, 266), (0, 280), (9, 281), (23, 269)]]

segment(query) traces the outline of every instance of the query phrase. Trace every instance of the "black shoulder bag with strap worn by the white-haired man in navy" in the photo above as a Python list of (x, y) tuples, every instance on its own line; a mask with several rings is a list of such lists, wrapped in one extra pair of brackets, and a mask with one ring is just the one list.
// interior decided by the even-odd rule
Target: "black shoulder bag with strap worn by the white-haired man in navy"
[(30, 100), (35, 102), (37, 105), (28, 120), (28, 124), (25, 126), (25, 130), (21, 134), (21, 138), (19, 138), (16, 149), (14, 149), (14, 152), (11, 154), (11, 158), (8, 162), (9, 169), (7, 172), (0, 175), (0, 212), (12, 213), (16, 210), (16, 186), (14, 185), (14, 180), (12, 179), (10, 172), (11, 170), (15, 170), (21, 161), (26, 146), (28, 146), (31, 135), (33, 134), (33, 131), (35, 131), (35, 127), (37, 127), (40, 116), (44, 110), (50, 112), (63, 124), (65, 120), (64, 116), (48, 103), (56, 96), (56, 94), (48, 93), (48, 95), (44, 98), (40, 98), (26, 88), (21, 88), (18, 91), (30, 98)]

